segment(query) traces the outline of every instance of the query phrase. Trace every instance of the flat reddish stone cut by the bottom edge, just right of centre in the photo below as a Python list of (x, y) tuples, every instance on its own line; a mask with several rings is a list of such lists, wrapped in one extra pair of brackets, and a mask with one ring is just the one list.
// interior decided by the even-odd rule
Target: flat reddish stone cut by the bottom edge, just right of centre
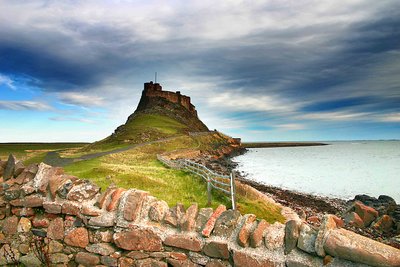
[(244, 251), (234, 251), (233, 262), (235, 267), (268, 267), (285, 266), (285, 261), (274, 258), (256, 256)]

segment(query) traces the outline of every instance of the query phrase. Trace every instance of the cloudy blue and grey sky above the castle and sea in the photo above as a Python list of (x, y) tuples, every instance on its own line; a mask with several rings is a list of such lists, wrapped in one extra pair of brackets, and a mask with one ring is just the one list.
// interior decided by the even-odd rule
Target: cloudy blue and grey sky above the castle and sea
[(400, 139), (400, 1), (0, 0), (0, 142), (92, 142), (143, 83), (244, 141)]

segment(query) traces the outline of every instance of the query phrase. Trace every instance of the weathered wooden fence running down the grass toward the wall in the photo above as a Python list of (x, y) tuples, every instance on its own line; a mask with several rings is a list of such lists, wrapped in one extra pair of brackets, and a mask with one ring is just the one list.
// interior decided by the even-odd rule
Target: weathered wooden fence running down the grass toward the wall
[(211, 205), (211, 190), (216, 189), (229, 195), (232, 202), (232, 209), (236, 209), (234, 172), (231, 172), (230, 175), (222, 175), (215, 173), (202, 164), (190, 160), (170, 160), (160, 155), (157, 155), (157, 159), (171, 168), (184, 169), (202, 177), (207, 182), (208, 205)]

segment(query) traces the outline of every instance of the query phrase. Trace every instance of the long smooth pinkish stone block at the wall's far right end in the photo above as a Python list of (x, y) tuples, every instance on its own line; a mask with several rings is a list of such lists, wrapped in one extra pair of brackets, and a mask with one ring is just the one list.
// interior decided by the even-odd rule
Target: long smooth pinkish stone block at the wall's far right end
[(371, 266), (400, 266), (400, 250), (341, 229), (330, 230), (323, 248), (334, 257)]

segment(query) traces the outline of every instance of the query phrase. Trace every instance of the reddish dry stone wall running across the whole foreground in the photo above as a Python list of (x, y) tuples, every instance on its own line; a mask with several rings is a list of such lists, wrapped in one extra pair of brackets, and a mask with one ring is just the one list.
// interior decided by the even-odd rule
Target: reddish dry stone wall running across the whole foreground
[(400, 251), (340, 228), (269, 224), (220, 205), (168, 204), (44, 163), (0, 161), (0, 265), (400, 266)]

